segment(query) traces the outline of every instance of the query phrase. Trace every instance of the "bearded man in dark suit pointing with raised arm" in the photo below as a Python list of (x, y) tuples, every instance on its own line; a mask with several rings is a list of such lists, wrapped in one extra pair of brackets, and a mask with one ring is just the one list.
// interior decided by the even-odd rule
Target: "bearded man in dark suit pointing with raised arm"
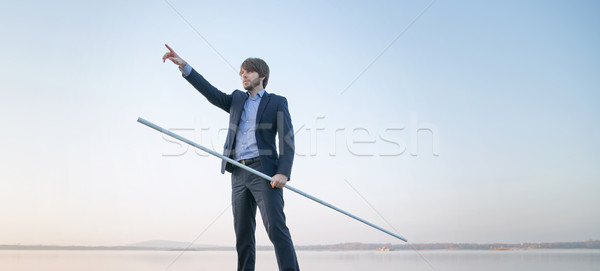
[[(179, 66), (183, 77), (213, 105), (229, 113), (229, 131), (223, 155), (273, 176), (261, 177), (223, 160), (221, 173), (231, 172), (233, 223), (238, 253), (238, 270), (254, 270), (256, 207), (275, 247), (279, 270), (299, 270), (296, 252), (283, 212), (283, 187), (290, 178), (294, 160), (294, 129), (285, 97), (265, 91), (269, 66), (262, 59), (248, 58), (240, 68), (247, 92), (225, 94), (197, 73), (165, 44), (163, 56)], [(275, 148), (279, 138), (279, 154)]]

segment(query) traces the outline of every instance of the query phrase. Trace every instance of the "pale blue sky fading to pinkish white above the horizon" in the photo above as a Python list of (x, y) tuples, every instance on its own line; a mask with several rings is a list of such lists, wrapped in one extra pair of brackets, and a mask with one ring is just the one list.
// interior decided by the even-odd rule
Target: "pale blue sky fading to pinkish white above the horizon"
[[(595, 1), (2, 1), (0, 244), (233, 246), (220, 90), (270, 66), (290, 185), (411, 243), (600, 239)], [(284, 191), (297, 245), (401, 243)], [(257, 216), (260, 221), (260, 216)], [(257, 244), (269, 240), (262, 224)]]

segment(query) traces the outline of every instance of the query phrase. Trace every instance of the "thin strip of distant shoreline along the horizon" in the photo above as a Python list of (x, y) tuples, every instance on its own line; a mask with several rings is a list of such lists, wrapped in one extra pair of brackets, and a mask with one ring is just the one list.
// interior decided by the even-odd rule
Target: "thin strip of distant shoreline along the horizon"
[[(187, 248), (190, 247), (190, 248)], [(552, 242), (552, 243), (428, 243), (428, 244), (367, 244), (367, 243), (342, 243), (332, 245), (304, 245), (296, 246), (297, 250), (309, 251), (376, 251), (376, 250), (539, 250), (539, 249), (600, 249), (600, 240), (578, 242)], [(0, 250), (114, 250), (114, 251), (233, 251), (234, 247), (228, 246), (181, 246), (181, 247), (148, 247), (148, 246), (56, 246), (56, 245), (0, 245)], [(273, 250), (271, 246), (257, 246), (257, 250)]]

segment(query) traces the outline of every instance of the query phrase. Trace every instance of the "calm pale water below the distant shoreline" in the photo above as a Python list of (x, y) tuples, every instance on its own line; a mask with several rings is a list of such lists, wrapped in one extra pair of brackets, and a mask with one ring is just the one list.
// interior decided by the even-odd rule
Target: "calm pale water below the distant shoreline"
[[(298, 251), (303, 270), (600, 270), (600, 250), (529, 251), (317, 252)], [(43, 271), (163, 271), (179, 252), (167, 251), (0, 251), (0, 270)], [(424, 260), (423, 257), (426, 259)], [(233, 251), (191, 251), (169, 270), (235, 270)], [(435, 269), (430, 267), (431, 263)], [(272, 251), (257, 253), (257, 270), (277, 270)]]

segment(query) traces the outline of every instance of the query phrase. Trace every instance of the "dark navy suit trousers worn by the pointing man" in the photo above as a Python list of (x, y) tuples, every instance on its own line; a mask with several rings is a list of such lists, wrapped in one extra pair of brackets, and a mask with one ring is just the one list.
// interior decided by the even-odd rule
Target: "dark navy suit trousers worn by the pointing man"
[[(247, 166), (263, 172), (260, 162)], [(283, 189), (272, 188), (267, 180), (236, 167), (231, 174), (231, 190), (238, 271), (254, 270), (257, 206), (269, 239), (275, 247), (279, 270), (300, 270), (292, 237), (285, 223)]]

